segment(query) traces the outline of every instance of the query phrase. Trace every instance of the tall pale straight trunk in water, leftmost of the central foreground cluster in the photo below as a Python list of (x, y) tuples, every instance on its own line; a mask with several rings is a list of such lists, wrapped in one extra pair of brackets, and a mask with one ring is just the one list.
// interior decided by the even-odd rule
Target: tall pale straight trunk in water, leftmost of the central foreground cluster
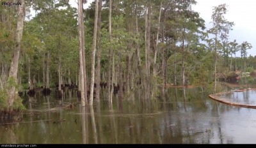
[(83, 24), (83, 0), (78, 1), (78, 26), (79, 26), (79, 66), (80, 66), (80, 83), (81, 85), (81, 103), (84, 107), (87, 105), (87, 95), (84, 93), (86, 91), (86, 73), (85, 69), (85, 57), (84, 57), (84, 24)]

